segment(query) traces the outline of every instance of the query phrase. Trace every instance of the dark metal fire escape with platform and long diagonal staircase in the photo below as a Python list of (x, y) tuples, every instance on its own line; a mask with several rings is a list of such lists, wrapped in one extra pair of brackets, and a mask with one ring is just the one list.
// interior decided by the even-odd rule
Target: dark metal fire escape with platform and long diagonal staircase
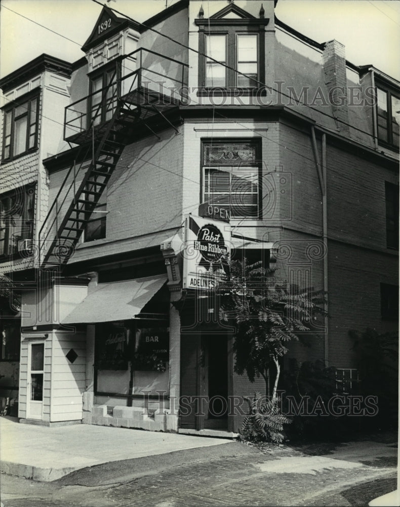
[(135, 133), (177, 131), (169, 117), (178, 111), (187, 66), (140, 48), (113, 61), (105, 87), (65, 108), (64, 139), (78, 150), (39, 230), (41, 267), (71, 258)]

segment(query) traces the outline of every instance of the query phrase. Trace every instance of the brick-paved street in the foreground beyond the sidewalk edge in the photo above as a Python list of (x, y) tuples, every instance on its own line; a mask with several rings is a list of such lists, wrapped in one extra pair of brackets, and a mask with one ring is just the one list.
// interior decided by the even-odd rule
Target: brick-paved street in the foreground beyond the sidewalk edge
[(2, 475), (1, 493), (4, 507), (366, 506), (396, 489), (396, 472), (394, 433), (262, 451), (230, 441), (113, 460), (52, 482)]

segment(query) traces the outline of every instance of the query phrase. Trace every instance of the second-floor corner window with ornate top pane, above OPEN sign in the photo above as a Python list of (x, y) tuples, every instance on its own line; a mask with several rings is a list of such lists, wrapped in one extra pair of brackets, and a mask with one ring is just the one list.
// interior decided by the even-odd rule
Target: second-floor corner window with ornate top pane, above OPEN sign
[(229, 208), (231, 218), (261, 218), (260, 144), (203, 144), (202, 202)]

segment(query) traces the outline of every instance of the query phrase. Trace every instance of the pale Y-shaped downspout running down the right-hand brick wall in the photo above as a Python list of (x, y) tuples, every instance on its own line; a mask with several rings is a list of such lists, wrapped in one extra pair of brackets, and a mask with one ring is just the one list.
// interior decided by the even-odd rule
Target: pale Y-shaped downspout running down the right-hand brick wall
[[(318, 174), (319, 188), (322, 195), (322, 237), (324, 243), (324, 258), (323, 258), (323, 276), (324, 276), (324, 293), (328, 293), (328, 201), (327, 201), (327, 139), (326, 134), (322, 134), (322, 168), (319, 163), (318, 149), (316, 146), (315, 129), (311, 126), (311, 140), (312, 150), (314, 153), (314, 160), (316, 172)], [(328, 303), (324, 304), (324, 309), (328, 312)], [(324, 361), (325, 366), (328, 366), (329, 361), (329, 343), (328, 343), (328, 315), (324, 317), (325, 339), (324, 339)]]

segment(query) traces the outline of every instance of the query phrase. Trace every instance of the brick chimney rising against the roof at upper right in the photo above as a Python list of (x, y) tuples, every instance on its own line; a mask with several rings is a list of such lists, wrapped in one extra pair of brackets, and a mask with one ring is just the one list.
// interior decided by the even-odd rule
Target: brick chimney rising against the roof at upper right
[(348, 133), (346, 58), (343, 44), (335, 40), (325, 43), (322, 62), (336, 126), (340, 132)]

